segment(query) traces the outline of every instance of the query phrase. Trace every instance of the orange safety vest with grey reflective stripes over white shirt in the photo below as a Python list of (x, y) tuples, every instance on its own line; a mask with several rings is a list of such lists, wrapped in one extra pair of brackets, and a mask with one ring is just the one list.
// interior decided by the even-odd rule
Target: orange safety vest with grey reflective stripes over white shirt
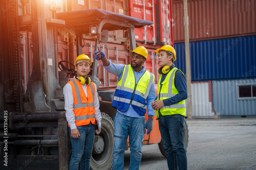
[[(76, 126), (88, 125), (90, 122), (95, 123), (95, 85), (90, 83), (87, 86), (87, 97), (84, 93), (80, 82), (72, 79), (68, 82), (72, 87), (74, 97), (74, 115)], [(69, 125), (68, 125), (69, 126)]]

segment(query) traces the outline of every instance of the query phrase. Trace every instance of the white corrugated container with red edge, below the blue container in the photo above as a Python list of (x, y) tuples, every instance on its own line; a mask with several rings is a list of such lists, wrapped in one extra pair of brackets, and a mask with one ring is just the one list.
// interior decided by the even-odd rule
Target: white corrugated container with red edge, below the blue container
[[(191, 84), (193, 117), (213, 118), (211, 81)], [(187, 104), (187, 102), (186, 102)]]

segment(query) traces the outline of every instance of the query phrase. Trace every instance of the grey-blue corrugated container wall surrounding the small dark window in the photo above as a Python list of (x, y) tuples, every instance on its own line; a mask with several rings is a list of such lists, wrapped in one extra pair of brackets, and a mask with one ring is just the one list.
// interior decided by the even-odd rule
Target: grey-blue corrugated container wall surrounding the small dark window
[(256, 117), (256, 98), (238, 99), (239, 85), (256, 84), (256, 79), (212, 81), (213, 108), (220, 117)]

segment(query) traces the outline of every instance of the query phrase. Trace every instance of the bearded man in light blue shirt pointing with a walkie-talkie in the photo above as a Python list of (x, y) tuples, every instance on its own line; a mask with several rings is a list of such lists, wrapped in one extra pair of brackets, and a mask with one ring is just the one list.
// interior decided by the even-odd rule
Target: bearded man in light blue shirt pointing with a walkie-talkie
[[(102, 66), (109, 73), (118, 76), (112, 104), (117, 109), (114, 117), (113, 169), (124, 169), (124, 149), (128, 135), (131, 150), (129, 169), (139, 169), (145, 128), (149, 134), (153, 129), (155, 115), (151, 107), (156, 97), (155, 76), (143, 67), (147, 60), (147, 50), (143, 46), (135, 48), (132, 51), (131, 65), (113, 64), (105, 59), (102, 51), (100, 53)], [(96, 55), (95, 58), (99, 60)], [(145, 123), (146, 108), (148, 120)]]

